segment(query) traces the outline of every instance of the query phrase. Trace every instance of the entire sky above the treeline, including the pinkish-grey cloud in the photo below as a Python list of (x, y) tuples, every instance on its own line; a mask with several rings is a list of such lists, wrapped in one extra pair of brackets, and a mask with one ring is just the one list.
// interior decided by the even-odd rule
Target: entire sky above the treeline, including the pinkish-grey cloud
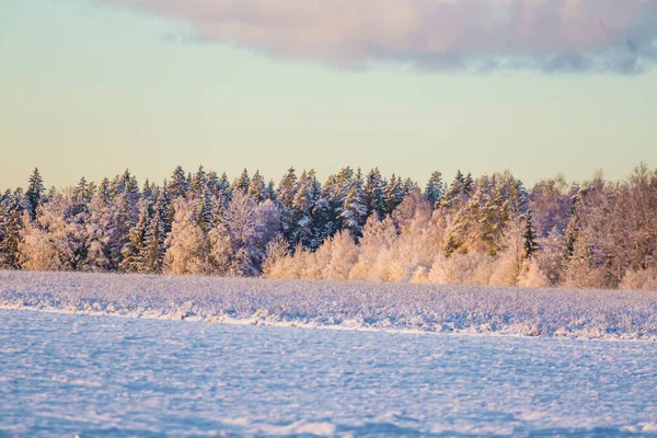
[(657, 0), (0, 0), (0, 189), (657, 166)]

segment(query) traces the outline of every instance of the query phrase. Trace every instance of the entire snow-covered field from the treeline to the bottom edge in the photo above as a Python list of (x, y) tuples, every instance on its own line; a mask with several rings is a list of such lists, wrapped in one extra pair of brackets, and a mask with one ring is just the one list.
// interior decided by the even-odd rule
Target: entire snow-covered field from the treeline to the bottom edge
[(657, 436), (655, 292), (0, 272), (0, 436)]

